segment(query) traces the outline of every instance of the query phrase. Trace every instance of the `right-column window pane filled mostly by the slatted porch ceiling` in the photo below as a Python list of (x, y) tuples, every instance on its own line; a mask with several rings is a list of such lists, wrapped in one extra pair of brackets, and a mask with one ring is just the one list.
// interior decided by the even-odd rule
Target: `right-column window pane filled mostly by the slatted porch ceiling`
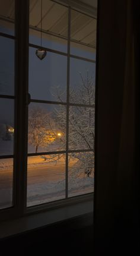
[(96, 59), (97, 21), (77, 11), (71, 11), (71, 54)]

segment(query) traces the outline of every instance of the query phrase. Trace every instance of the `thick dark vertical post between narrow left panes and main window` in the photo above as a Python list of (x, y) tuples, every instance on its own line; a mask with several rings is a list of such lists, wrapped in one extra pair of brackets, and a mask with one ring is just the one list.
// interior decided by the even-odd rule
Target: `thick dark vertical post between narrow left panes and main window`
[(27, 93), (29, 0), (17, 0), (16, 17), (16, 87), (15, 87), (15, 207), (23, 214), (27, 194)]

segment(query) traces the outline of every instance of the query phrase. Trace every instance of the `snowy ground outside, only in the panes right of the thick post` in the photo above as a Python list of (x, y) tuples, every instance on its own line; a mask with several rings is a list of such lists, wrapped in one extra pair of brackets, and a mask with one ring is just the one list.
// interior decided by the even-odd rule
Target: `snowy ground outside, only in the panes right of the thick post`
[[(71, 161), (69, 165), (69, 197), (93, 192), (93, 177), (71, 176), (71, 168), (75, 164), (76, 161)], [(38, 178), (33, 182), (34, 177)], [(57, 163), (48, 163), (39, 157), (31, 157), (28, 163), (27, 205), (32, 206), (63, 198), (65, 198), (64, 159)]]

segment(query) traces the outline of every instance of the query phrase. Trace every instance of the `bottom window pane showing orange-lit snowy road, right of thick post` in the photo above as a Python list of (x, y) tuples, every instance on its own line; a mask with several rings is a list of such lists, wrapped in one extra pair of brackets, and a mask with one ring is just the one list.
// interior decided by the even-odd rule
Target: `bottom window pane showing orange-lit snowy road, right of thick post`
[(65, 155), (28, 157), (27, 206), (65, 198)]

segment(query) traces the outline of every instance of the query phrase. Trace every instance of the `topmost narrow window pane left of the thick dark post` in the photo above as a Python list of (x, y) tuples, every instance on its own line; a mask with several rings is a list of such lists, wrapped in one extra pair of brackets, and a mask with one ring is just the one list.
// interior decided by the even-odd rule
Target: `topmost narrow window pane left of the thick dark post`
[(0, 0), (0, 32), (14, 35), (15, 1)]

